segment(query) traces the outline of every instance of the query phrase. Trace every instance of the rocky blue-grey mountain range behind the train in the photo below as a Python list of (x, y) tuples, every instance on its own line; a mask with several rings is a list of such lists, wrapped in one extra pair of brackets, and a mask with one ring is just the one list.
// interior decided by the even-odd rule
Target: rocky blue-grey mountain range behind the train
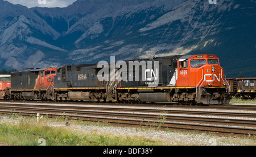
[(0, 65), (46, 68), (187, 53), (256, 77), (256, 0), (78, 0), (28, 9), (0, 0)]

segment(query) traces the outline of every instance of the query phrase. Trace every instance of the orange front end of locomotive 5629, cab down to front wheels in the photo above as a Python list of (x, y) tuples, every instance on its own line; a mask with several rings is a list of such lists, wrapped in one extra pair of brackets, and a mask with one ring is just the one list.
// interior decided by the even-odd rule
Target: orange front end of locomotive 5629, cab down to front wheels
[(187, 89), (186, 93), (196, 94), (196, 102), (228, 104), (230, 101), (229, 85), (219, 63), (215, 55), (181, 57), (178, 60), (176, 86)]

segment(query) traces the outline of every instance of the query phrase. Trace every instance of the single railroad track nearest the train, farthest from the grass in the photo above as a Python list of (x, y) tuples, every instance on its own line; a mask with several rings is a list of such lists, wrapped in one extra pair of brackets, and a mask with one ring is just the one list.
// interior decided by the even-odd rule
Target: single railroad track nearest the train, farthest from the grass
[(50, 109), (69, 109), (69, 110), (105, 110), (105, 111), (131, 111), (131, 112), (142, 112), (142, 113), (162, 113), (165, 111), (166, 113), (170, 114), (189, 114), (189, 115), (213, 115), (213, 116), (227, 116), (227, 117), (250, 117), (250, 118), (256, 118), (256, 112), (255, 113), (246, 113), (246, 112), (237, 112), (237, 111), (213, 111), (213, 110), (200, 110), (201, 108), (197, 108), (199, 110), (191, 110), (189, 108), (152, 108), (150, 107), (127, 107), (127, 108), (120, 108), (119, 106), (97, 106), (97, 105), (67, 105), (67, 104), (53, 104), (53, 105), (47, 105), (47, 104), (35, 104), (35, 103), (1, 103), (0, 106), (24, 106), (24, 107), (30, 107), (34, 108), (35, 105), (37, 108), (50, 108)]

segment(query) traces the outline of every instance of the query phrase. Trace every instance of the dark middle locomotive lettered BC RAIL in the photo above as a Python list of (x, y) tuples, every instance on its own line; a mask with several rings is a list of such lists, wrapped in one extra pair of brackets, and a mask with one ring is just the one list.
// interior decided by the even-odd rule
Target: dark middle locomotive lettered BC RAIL
[(104, 82), (98, 81), (93, 64), (65, 65), (57, 68), (52, 89), (55, 100), (105, 100), (100, 90), (105, 92)]

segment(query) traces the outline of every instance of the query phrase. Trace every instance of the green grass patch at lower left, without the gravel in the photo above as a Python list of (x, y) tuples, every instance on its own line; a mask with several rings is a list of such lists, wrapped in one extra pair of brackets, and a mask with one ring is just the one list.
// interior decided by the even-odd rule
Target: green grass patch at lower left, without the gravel
[[(17, 118), (11, 116), (11, 118)], [(1, 117), (0, 117), (1, 119)], [(162, 141), (152, 139), (113, 135), (111, 133), (101, 134), (97, 130), (79, 133), (71, 127), (52, 127), (46, 125), (49, 121), (65, 124), (63, 118), (46, 119), (36, 123), (36, 118), (18, 117), (17, 123), (0, 123), (0, 142), (18, 146), (155, 146), (162, 145)], [(86, 125), (86, 122), (72, 121), (72, 124)], [(92, 125), (92, 123), (90, 123)], [(94, 124), (98, 125), (98, 124)], [(102, 124), (101, 124), (102, 125)]]

